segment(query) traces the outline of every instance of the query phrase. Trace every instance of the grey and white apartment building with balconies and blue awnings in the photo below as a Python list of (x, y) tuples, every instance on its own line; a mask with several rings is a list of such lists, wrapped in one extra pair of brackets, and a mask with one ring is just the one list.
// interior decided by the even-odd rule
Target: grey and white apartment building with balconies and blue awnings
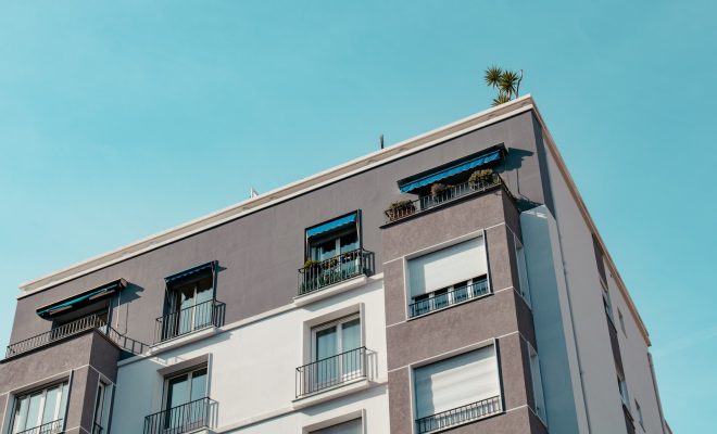
[(21, 286), (3, 433), (668, 433), (531, 97)]

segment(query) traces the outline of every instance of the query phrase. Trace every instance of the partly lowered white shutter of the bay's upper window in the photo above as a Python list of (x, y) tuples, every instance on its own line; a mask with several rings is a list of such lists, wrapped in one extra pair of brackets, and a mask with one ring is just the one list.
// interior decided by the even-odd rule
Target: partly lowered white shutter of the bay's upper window
[(413, 297), (487, 273), (482, 237), (408, 259), (408, 285)]

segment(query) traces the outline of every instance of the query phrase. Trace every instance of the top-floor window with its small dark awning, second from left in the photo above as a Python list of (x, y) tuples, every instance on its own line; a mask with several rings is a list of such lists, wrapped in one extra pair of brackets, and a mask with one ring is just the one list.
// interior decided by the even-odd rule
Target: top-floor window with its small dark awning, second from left
[(159, 341), (191, 333), (214, 323), (213, 269), (214, 263), (210, 263), (165, 279), (165, 315), (161, 318)]

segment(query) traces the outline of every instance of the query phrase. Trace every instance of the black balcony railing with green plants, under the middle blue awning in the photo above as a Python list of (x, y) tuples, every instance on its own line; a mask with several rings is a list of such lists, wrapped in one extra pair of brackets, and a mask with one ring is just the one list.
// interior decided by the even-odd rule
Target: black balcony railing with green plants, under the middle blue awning
[(363, 248), (313, 263), (299, 269), (299, 295), (374, 272), (374, 253)]

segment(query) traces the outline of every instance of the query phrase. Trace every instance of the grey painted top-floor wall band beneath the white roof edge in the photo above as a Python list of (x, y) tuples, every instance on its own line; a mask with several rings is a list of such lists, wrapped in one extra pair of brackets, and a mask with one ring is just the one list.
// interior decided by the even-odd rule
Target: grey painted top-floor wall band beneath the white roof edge
[(95, 271), (17, 303), (11, 342), (49, 330), (35, 309), (125, 278), (129, 288), (115, 299), (113, 327), (151, 343), (154, 319), (162, 315), (163, 278), (209, 260), (218, 260), (217, 298), (227, 304), (226, 321), (248, 318), (287, 305), (297, 292), (297, 269), (303, 264), (304, 228), (341, 214), (363, 210), (364, 247), (377, 253), (381, 271), (383, 209), (400, 195), (397, 180), (473, 154), (496, 143), (513, 152), (505, 167), (511, 188), (542, 201), (531, 113), (455, 138), (369, 171), (341, 180), (271, 208), (260, 210), (141, 256)]

